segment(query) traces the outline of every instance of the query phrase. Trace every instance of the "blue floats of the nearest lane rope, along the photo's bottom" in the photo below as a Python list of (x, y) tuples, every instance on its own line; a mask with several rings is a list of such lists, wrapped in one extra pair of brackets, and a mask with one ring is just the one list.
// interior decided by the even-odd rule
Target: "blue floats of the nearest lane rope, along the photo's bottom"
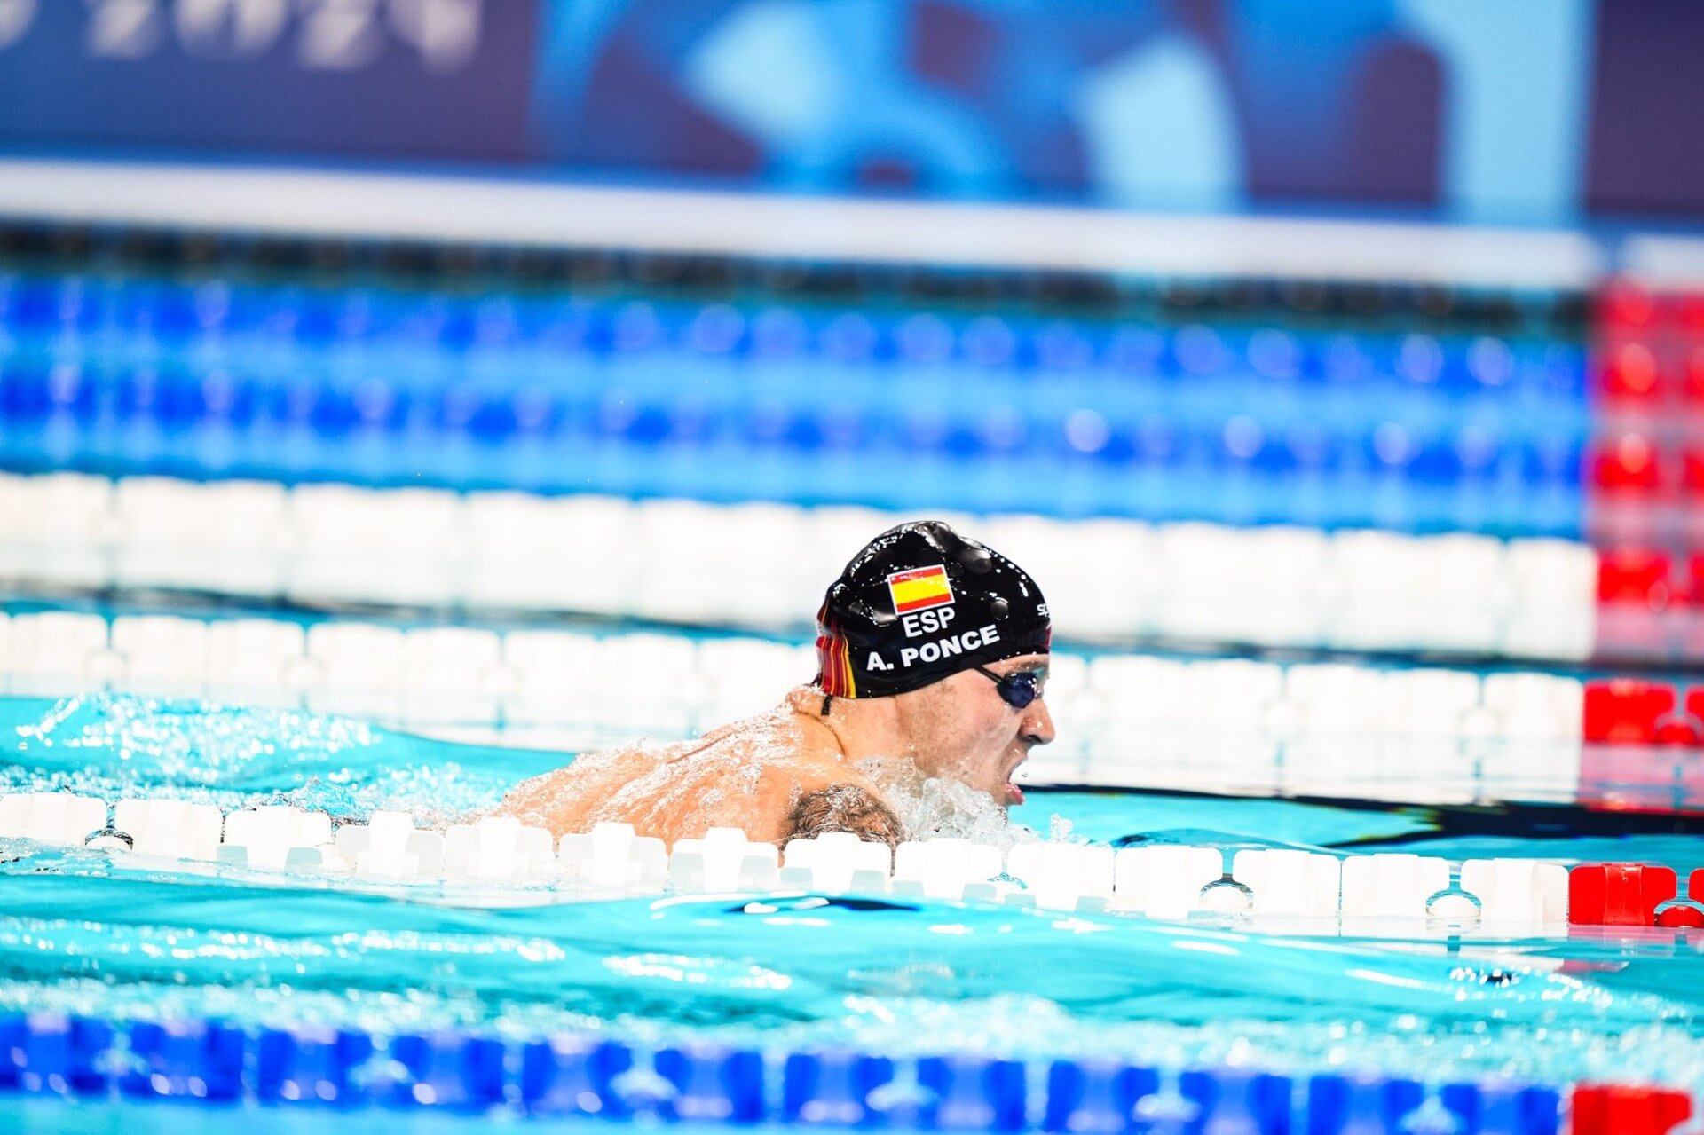
[(1563, 1091), (1508, 1080), (1169, 1074), (1116, 1060), (975, 1053), (777, 1057), (707, 1043), (634, 1048), (596, 1034), (383, 1038), (61, 1014), (0, 1016), (7, 1094), (1012, 1135), (1557, 1135), (1563, 1113)]

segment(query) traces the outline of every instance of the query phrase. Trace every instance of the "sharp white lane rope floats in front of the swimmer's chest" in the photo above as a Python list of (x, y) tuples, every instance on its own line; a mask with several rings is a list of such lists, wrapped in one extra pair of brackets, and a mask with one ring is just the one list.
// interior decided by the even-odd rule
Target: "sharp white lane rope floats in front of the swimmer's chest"
[(740, 828), (709, 828), (673, 849), (627, 823), (552, 840), (515, 816), (445, 832), (399, 811), (366, 823), (290, 804), (220, 815), (211, 804), (73, 792), (0, 796), (0, 838), (101, 847), (123, 857), (220, 862), (371, 883), (523, 884), (595, 895), (809, 890), (951, 902), (1004, 902), (1045, 912), (1230, 920), (1261, 932), (1430, 936), (1438, 930), (1551, 936), (1566, 930), (1568, 871), (1535, 859), (1469, 859), (1460, 871), (1413, 854), (1329, 856), (1304, 849), (1033, 842), (1000, 849), (964, 838), (896, 849), (852, 833), (791, 840), (784, 854)]

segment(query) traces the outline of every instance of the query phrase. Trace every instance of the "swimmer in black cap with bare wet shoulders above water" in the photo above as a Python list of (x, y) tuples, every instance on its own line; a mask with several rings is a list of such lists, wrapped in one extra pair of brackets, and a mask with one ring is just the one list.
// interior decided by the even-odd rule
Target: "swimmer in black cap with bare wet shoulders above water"
[(1012, 774), (1053, 740), (1053, 632), (1017, 564), (942, 521), (900, 525), (845, 566), (816, 622), (816, 680), (772, 712), (581, 757), (499, 809), (559, 835), (615, 820), (670, 844), (722, 825), (772, 844), (825, 832), (898, 844), (907, 832), (861, 769), (891, 757), (1022, 803)]

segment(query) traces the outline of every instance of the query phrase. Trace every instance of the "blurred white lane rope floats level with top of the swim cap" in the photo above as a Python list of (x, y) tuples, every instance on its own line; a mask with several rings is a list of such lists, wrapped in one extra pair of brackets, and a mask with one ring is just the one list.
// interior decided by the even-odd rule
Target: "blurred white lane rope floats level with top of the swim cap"
[[(786, 631), (808, 624), (823, 583), (864, 540), (913, 518), (590, 494), (0, 474), (0, 578)], [(1585, 544), (1287, 525), (956, 520), (1036, 573), (1067, 639), (1159, 634), (1557, 660), (1585, 660), (1593, 648), (1597, 552)], [(777, 533), (799, 535), (777, 542)], [(695, 539), (705, 556), (690, 566), (651, 554), (659, 542), (673, 549)], [(586, 547), (600, 556), (579, 556)], [(792, 552), (777, 559), (775, 547)], [(1133, 562), (1154, 571), (1121, 576)]]

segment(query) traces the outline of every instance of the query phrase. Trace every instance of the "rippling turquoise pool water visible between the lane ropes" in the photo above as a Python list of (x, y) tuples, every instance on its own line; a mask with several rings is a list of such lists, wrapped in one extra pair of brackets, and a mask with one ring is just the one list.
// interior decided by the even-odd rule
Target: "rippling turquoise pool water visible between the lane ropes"
[[(300, 712), (102, 697), (0, 700), (3, 791), (169, 789), (222, 806), (377, 806), (446, 820), (561, 755), (457, 746)], [(1091, 838), (1384, 844), (1704, 864), (1685, 833), (1454, 833), (1425, 809), (1036, 792)], [(0, 845), (5, 847), (5, 845)], [(1656, 1079), (1704, 1087), (1704, 959), (1634, 942), (1276, 937), (1135, 917), (801, 895), (457, 905), (254, 876), (140, 873), (85, 850), (0, 850), (0, 1009), (216, 1014), (377, 1031), (591, 1028), (762, 1046), (1113, 1053), (1425, 1079)]]

